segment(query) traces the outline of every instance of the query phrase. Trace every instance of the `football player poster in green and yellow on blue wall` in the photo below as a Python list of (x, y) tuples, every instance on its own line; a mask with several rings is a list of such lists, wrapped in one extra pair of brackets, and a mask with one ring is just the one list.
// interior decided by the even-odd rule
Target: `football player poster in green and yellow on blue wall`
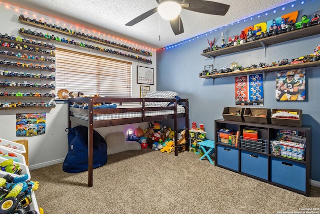
[(305, 70), (275, 72), (275, 99), (277, 101), (305, 100)]

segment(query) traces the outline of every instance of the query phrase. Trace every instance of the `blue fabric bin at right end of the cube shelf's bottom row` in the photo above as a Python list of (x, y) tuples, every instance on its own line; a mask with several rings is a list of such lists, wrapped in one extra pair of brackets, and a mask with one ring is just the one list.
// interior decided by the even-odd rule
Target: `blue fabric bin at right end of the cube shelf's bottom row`
[(305, 191), (305, 164), (271, 157), (271, 181)]

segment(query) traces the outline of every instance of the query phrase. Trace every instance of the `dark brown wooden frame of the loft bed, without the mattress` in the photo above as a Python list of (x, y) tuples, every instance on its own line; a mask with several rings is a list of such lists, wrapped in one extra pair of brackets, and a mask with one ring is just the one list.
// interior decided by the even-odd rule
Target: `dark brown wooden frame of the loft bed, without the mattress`
[[(173, 106), (165, 107), (148, 107), (145, 106), (146, 102), (172, 102)], [(74, 108), (71, 107), (73, 103), (87, 103), (88, 108)], [(135, 103), (137, 107), (128, 108), (93, 108), (94, 103), (115, 103), (117, 105), (124, 105)], [(141, 105), (138, 105), (141, 104)], [(177, 104), (181, 104), (184, 107), (184, 113), (177, 113)], [(132, 123), (152, 122), (173, 119), (174, 121), (174, 142), (177, 142), (177, 118), (185, 118), (185, 144), (174, 144), (174, 155), (178, 155), (178, 148), (185, 145), (185, 150), (189, 151), (189, 114), (188, 114), (188, 99), (161, 99), (161, 98), (112, 98), (112, 97), (79, 97), (68, 99), (68, 127), (71, 128), (71, 122), (78, 123), (80, 125), (88, 127), (88, 187), (92, 184), (92, 170), (93, 170), (93, 129), (125, 125)], [(173, 114), (145, 116), (146, 112), (160, 111), (160, 110), (173, 110)], [(73, 116), (73, 113), (81, 113), (87, 115), (88, 120), (79, 119)], [(141, 112), (141, 117), (121, 118), (111, 120), (93, 120), (93, 116), (97, 114), (111, 114), (111, 113), (124, 113), (124, 112)]]

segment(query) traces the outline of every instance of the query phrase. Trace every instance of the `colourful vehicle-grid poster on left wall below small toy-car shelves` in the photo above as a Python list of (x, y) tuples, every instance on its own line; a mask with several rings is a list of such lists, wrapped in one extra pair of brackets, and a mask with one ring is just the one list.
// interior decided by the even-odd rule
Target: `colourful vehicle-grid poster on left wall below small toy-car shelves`
[(17, 137), (30, 137), (45, 133), (45, 113), (16, 114)]

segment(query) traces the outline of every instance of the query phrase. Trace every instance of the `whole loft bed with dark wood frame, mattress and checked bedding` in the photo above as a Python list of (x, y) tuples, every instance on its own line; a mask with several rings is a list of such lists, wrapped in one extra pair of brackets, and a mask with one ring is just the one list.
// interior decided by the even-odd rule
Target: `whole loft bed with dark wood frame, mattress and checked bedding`
[[(185, 118), (185, 139), (188, 142), (188, 99), (176, 98), (113, 98), (113, 97), (79, 97), (68, 99), (68, 127), (71, 123), (88, 127), (88, 187), (93, 184), (93, 129), (132, 123), (152, 122), (173, 119), (174, 142), (177, 141), (177, 119)], [(85, 108), (77, 104), (86, 103)], [(113, 108), (96, 107), (106, 104)], [(165, 105), (167, 104), (167, 105)], [(116, 105), (116, 108), (114, 106)], [(73, 107), (72, 107), (73, 106)], [(77, 106), (77, 107), (76, 107)], [(104, 105), (103, 105), (104, 106)], [(189, 144), (174, 144), (174, 155), (178, 155), (178, 147)]]

